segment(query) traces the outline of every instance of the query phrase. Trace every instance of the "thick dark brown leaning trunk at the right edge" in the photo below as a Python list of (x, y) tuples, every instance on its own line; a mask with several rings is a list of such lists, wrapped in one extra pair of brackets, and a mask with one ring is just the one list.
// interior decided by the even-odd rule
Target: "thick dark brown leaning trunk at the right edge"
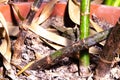
[(109, 37), (103, 47), (103, 52), (100, 53), (100, 61), (96, 69), (96, 75), (104, 77), (110, 68), (116, 63), (115, 57), (118, 57), (120, 53), (120, 25), (112, 29)]

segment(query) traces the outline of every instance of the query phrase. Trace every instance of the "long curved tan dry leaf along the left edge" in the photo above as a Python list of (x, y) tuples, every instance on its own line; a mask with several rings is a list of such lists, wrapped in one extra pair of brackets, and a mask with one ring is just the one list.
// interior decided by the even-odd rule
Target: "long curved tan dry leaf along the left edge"
[(4, 56), (4, 58), (10, 62), (11, 60), (11, 43), (10, 43), (10, 38), (9, 38), (9, 33), (7, 29), (7, 23), (3, 17), (3, 15), (0, 13), (0, 37), (3, 38), (2, 44), (0, 45), (0, 52)]

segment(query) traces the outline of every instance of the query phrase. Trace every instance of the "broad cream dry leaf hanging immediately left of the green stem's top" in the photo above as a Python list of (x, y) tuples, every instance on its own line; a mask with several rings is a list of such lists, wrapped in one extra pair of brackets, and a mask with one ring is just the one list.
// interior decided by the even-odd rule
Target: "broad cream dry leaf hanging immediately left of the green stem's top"
[(68, 13), (70, 19), (80, 25), (80, 6), (75, 4), (72, 0), (68, 0)]

